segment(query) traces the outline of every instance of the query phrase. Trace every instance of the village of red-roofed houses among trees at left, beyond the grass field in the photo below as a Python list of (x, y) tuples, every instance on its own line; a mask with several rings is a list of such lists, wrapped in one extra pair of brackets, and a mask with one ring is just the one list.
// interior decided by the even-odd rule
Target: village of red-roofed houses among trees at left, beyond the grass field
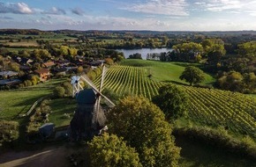
[(3, 65), (0, 65), (0, 89), (9, 90), (26, 87), (46, 82), (52, 77), (64, 77), (74, 75), (78, 72), (87, 72), (90, 69), (102, 66), (104, 62), (105, 60), (101, 59), (87, 60), (85, 57), (79, 55), (76, 55), (72, 62), (68, 60), (49, 60), (41, 63), (30, 58), (7, 56), (2, 62)]

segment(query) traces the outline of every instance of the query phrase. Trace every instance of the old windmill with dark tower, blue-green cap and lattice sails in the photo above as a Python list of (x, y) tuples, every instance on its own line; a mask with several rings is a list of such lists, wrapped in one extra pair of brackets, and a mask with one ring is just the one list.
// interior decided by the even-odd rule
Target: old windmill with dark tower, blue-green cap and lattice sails
[[(71, 120), (71, 132), (73, 140), (80, 140), (82, 138), (90, 139), (95, 134), (99, 134), (105, 126), (106, 117), (101, 105), (101, 99), (104, 98), (109, 107), (115, 104), (106, 96), (102, 94), (102, 87), (104, 83), (104, 76), (106, 70), (105, 66), (102, 69), (102, 80), (100, 88), (91, 82), (87, 75), (72, 76), (73, 96), (78, 102), (77, 110)], [(91, 88), (83, 89), (80, 81), (86, 82)]]

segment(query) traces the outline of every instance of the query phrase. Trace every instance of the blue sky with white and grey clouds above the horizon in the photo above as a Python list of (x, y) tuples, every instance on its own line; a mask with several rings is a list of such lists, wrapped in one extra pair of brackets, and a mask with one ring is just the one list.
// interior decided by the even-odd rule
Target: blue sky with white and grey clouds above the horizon
[(0, 28), (256, 30), (256, 0), (0, 0)]

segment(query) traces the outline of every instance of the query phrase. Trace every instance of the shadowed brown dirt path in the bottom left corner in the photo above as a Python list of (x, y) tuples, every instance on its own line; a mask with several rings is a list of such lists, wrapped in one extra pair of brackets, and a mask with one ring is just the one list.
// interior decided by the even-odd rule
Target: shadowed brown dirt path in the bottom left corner
[(67, 156), (73, 149), (65, 146), (50, 147), (42, 150), (7, 152), (0, 155), (0, 167), (66, 167), (71, 163)]

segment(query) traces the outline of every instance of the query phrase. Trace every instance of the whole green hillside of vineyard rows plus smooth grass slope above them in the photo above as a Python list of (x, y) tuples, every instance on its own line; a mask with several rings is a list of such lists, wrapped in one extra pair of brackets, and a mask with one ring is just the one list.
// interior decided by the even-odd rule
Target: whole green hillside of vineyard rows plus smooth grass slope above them
[[(122, 64), (109, 68), (103, 90), (111, 90), (120, 96), (132, 94), (152, 98), (163, 84), (176, 83), (189, 98), (190, 121), (211, 127), (222, 126), (232, 134), (248, 134), (256, 139), (255, 98), (231, 91), (184, 84), (178, 76), (184, 70), (186, 63), (126, 60)], [(149, 73), (153, 77), (148, 77)], [(204, 84), (214, 81), (212, 76), (206, 76), (207, 80)], [(99, 85), (100, 78), (94, 83)]]

